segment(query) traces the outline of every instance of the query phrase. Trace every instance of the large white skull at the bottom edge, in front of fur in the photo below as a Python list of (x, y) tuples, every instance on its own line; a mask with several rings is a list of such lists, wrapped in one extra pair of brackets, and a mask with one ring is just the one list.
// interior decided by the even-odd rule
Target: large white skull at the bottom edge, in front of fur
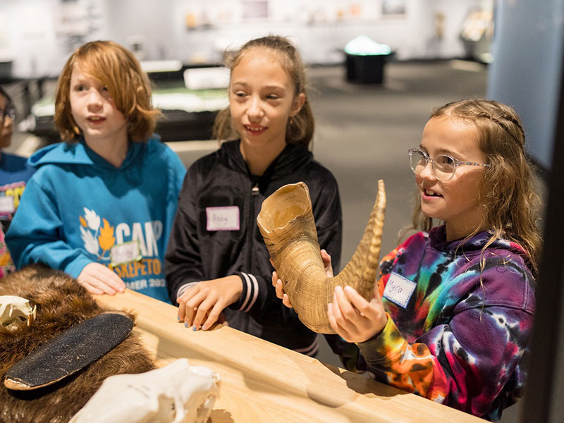
[(69, 423), (205, 423), (220, 385), (211, 369), (181, 358), (150, 372), (110, 376)]

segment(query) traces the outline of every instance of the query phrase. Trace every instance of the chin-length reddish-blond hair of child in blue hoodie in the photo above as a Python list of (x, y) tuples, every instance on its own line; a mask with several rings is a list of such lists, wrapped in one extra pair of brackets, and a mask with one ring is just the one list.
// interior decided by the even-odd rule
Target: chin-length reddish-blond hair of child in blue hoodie
[(149, 78), (135, 56), (112, 41), (83, 44), (63, 66), (57, 82), (54, 118), (61, 138), (76, 142), (82, 133), (71, 113), (71, 75), (75, 65), (108, 87), (116, 108), (125, 116), (129, 139), (146, 142), (160, 114), (152, 106)]

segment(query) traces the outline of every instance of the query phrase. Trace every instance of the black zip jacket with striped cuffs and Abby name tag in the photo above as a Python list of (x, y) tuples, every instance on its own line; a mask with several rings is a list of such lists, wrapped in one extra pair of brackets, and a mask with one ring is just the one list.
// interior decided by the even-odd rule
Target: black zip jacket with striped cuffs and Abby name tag
[[(239, 141), (228, 141), (218, 151), (195, 161), (185, 176), (165, 257), (166, 283), (173, 304), (189, 283), (237, 274), (243, 293), (223, 310), (229, 326), (315, 355), (316, 334), (300, 322), (293, 309), (276, 298), (271, 284), (274, 269), (257, 226), (264, 199), (282, 185), (300, 180), (309, 188), (319, 245), (331, 255), (337, 274), (341, 259), (341, 200), (331, 172), (314, 161), (305, 147), (287, 145), (263, 176), (252, 176), (240, 153)], [(231, 230), (214, 230), (209, 221), (212, 214), (207, 212), (210, 207), (219, 207), (215, 210), (220, 211), (220, 216), (228, 211), (225, 213), (231, 219), (233, 213), (238, 213), (238, 224), (231, 225)], [(338, 336), (326, 338), (341, 360), (351, 351), (357, 355), (354, 344)]]

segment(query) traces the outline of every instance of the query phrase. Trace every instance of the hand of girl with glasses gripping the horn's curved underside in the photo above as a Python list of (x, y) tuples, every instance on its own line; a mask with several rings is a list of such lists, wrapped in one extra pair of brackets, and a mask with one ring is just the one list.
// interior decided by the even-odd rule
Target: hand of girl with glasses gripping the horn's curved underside
[(388, 321), (384, 304), (374, 286), (374, 296), (364, 300), (350, 286), (336, 286), (327, 309), (329, 324), (347, 342), (360, 343), (378, 335)]

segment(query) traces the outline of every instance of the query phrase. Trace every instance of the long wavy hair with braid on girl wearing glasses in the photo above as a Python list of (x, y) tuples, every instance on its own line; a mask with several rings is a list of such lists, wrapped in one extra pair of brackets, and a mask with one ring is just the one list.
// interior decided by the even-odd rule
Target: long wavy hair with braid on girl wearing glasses
[[(540, 198), (534, 189), (533, 166), (525, 154), (525, 131), (517, 112), (494, 100), (467, 99), (439, 107), (431, 118), (450, 116), (476, 126), (479, 149), (490, 164), (482, 178), (481, 203), (484, 209), (482, 228), (491, 231), (484, 246), (497, 238), (513, 241), (529, 255), (536, 273), (541, 250), (537, 228)], [(412, 227), (429, 231), (432, 219), (421, 211), (421, 199), (412, 215)], [(468, 235), (470, 238), (477, 233)]]

